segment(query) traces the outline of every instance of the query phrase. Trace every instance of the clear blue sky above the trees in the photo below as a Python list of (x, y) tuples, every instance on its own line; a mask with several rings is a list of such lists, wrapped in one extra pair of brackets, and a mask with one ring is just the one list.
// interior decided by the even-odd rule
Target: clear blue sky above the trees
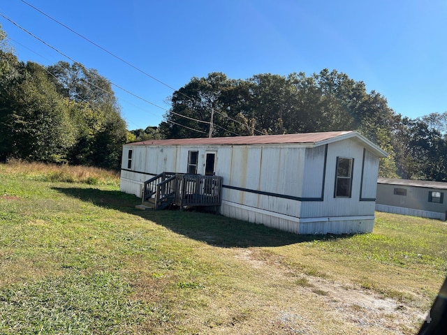
[[(1, 15), (142, 98), (113, 87), (129, 130), (158, 125), (173, 89), (212, 72), (247, 79), (336, 69), (385, 96), (396, 113), (447, 111), (445, 0), (25, 1), (152, 76), (22, 0), (0, 3)], [(22, 61), (69, 61), (0, 23)]]

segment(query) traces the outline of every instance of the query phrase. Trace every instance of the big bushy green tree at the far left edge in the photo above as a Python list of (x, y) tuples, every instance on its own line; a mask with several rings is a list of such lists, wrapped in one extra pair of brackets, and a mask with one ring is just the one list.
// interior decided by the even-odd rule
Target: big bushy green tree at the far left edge
[(10, 54), (3, 56), (7, 56), (2, 59), (3, 65), (9, 68), (2, 76), (0, 98), (3, 160), (66, 162), (68, 148), (74, 142), (68, 101), (47, 79), (43, 66), (23, 64)]

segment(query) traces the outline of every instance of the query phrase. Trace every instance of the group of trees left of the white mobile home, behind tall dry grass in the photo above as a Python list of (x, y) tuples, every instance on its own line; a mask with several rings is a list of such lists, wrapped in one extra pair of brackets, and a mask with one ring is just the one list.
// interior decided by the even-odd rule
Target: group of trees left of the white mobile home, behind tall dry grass
[(128, 132), (110, 82), (78, 63), (19, 61), (1, 36), (0, 161), (119, 168)]

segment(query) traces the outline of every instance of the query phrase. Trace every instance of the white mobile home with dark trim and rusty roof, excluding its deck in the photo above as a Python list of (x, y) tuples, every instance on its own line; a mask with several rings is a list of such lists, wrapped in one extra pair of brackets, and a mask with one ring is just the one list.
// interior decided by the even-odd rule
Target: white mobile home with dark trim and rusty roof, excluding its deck
[(371, 232), (379, 158), (355, 131), (125, 144), (121, 190), (162, 172), (221, 177), (219, 213), (297, 234)]

